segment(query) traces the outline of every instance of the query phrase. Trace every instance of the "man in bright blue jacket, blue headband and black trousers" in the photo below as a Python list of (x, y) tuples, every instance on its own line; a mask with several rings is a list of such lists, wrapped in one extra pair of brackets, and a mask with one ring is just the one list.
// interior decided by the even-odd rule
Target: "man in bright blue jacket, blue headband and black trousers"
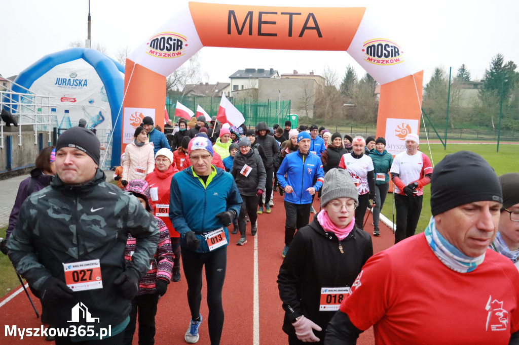
[(283, 257), (290, 247), (295, 229), (308, 224), (312, 195), (316, 194), (324, 181), (321, 158), (309, 152), (310, 135), (306, 132), (299, 133), (297, 143), (299, 149), (285, 156), (277, 172), (279, 184), (285, 191), (285, 247), (281, 253)]

